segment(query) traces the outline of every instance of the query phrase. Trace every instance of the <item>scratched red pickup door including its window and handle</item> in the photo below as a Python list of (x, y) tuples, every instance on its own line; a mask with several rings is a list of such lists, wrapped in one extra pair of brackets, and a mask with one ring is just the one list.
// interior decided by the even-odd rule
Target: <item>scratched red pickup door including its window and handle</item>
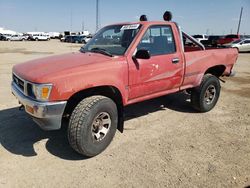
[(137, 46), (148, 50), (149, 59), (135, 59), (129, 66), (129, 100), (180, 87), (183, 62), (171, 26), (151, 26)]

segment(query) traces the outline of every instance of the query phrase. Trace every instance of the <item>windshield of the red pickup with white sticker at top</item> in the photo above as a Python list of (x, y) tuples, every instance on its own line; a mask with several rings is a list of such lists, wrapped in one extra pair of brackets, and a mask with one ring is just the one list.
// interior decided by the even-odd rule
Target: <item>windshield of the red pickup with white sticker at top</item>
[(102, 53), (108, 56), (123, 55), (140, 27), (140, 24), (104, 27), (81, 48), (81, 52)]

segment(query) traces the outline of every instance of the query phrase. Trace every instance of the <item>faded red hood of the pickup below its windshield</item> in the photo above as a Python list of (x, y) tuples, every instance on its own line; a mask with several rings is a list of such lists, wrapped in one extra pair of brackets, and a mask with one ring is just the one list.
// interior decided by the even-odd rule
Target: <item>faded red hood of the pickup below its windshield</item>
[[(96, 67), (96, 64), (103, 64), (112, 61), (112, 57), (97, 53), (69, 53), (58, 56), (51, 56), (21, 63), (13, 67), (13, 72), (30, 82), (42, 83), (51, 80), (53, 77), (70, 72), (76, 67), (85, 66), (86, 69)], [(93, 66), (94, 65), (94, 66)]]

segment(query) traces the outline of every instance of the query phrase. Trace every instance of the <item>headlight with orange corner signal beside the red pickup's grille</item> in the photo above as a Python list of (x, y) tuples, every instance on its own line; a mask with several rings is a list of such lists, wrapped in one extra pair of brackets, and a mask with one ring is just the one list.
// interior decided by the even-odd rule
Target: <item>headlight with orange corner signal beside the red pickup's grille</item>
[(32, 91), (37, 100), (47, 101), (50, 96), (52, 84), (32, 84)]

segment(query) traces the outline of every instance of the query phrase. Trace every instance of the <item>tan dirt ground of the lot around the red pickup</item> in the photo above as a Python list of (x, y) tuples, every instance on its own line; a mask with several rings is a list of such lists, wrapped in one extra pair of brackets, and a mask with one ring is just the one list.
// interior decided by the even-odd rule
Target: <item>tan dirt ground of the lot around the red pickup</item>
[(10, 91), (12, 66), (80, 45), (0, 41), (0, 187), (246, 187), (250, 185), (250, 53), (239, 55), (217, 106), (195, 112), (183, 93), (126, 109), (125, 131), (85, 159), (66, 131), (42, 131)]

